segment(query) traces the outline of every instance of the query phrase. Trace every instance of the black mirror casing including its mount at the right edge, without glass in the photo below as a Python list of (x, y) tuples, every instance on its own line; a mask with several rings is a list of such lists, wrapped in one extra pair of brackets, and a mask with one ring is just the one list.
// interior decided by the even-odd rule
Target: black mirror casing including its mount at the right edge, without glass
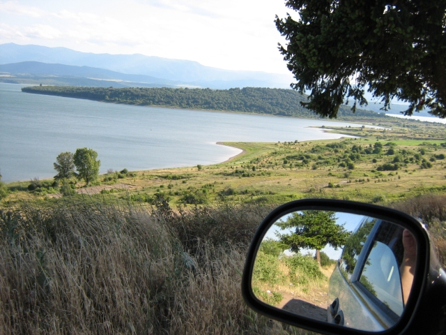
[[(426, 330), (429, 328), (429, 325), (426, 325), (425, 323), (427, 320), (429, 320), (429, 312), (426, 310), (426, 308), (424, 308), (426, 304), (429, 304), (429, 301), (426, 301), (428, 297), (430, 297), (429, 299), (436, 300), (436, 304), (439, 308), (438, 315), (445, 313), (443, 315), (443, 319), (439, 317), (439, 324), (434, 321), (433, 324), (436, 325), (433, 325), (431, 322), (432, 331), (434, 332), (434, 329), (439, 329), (439, 327), (442, 327), (441, 322), (446, 320), (445, 275), (444, 272), (442, 272), (443, 270), (438, 266), (438, 261), (431, 259), (429, 235), (427, 234), (424, 225), (422, 225), (422, 223), (417, 221), (412, 216), (402, 213), (401, 211), (396, 211), (394, 209), (380, 207), (373, 204), (345, 200), (295, 200), (277, 207), (277, 209), (273, 210), (263, 220), (258, 230), (254, 234), (252, 243), (249, 246), (245, 269), (243, 270), (242, 293), (249, 307), (258, 313), (268, 316), (269, 318), (280, 322), (285, 322), (295, 327), (308, 329), (314, 332), (321, 332), (323, 334), (377, 334), (376, 332), (364, 332), (358, 329), (341, 327), (339, 325), (305, 318), (301, 315), (295, 315), (289, 311), (284, 311), (265, 304), (263, 301), (260, 301), (255, 297), (252, 290), (254, 260), (264, 235), (266, 234), (268, 228), (270, 228), (270, 226), (282, 216), (290, 214), (293, 211), (302, 210), (344, 211), (351, 214), (372, 216), (384, 221), (396, 223), (401, 225), (403, 228), (410, 229), (410, 232), (415, 235), (415, 239), (417, 240), (417, 270), (413, 279), (410, 297), (397, 324), (390, 329), (379, 332), (379, 334), (426, 334), (424, 332), (420, 332), (420, 329)], [(436, 263), (436, 265), (432, 263)], [(437, 269), (433, 269), (433, 267), (436, 267)], [(440, 271), (438, 271), (438, 269), (440, 269)], [(428, 281), (436, 282), (436, 285), (432, 285), (432, 283), (428, 283)], [(443, 301), (443, 306), (441, 300), (442, 298), (445, 299), (445, 301)], [(420, 325), (420, 323), (424, 323), (424, 325)]]

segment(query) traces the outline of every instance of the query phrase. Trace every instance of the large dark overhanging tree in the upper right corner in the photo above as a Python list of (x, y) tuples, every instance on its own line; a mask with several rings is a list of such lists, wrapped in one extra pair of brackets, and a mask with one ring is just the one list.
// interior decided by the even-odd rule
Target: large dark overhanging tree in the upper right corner
[(297, 83), (311, 90), (302, 103), (336, 117), (346, 98), (367, 104), (364, 89), (390, 107), (410, 103), (406, 115), (424, 107), (446, 117), (446, 1), (287, 0), (299, 20), (276, 16), (289, 43), (279, 50)]

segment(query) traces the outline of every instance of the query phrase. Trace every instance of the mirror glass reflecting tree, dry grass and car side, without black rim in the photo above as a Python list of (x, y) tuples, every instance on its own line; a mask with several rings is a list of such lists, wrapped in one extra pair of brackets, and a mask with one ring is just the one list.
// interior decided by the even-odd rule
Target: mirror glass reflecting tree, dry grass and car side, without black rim
[(410, 295), (414, 235), (395, 223), (339, 212), (295, 211), (266, 232), (252, 290), (305, 318), (381, 332), (398, 322)]

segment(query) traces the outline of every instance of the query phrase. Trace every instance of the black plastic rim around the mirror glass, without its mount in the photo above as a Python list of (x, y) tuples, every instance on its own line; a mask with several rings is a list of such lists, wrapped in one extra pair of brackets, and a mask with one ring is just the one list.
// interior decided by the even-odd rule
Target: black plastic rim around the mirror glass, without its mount
[[(254, 258), (259, 248), (260, 242), (263, 236), (270, 228), (272, 223), (275, 223), (278, 218), (291, 213), (292, 211), (301, 211), (305, 209), (322, 209), (328, 211), (346, 211), (352, 214), (360, 214), (366, 216), (373, 216), (385, 221), (397, 223), (405, 228), (410, 228), (411, 232), (415, 235), (418, 241), (417, 248), (417, 276), (413, 281), (413, 287), (410, 293), (410, 297), (406, 304), (406, 308), (401, 315), (399, 322), (394, 327), (387, 329), (383, 332), (364, 332), (357, 329), (350, 329), (347, 327), (341, 327), (332, 325), (327, 322), (320, 322), (310, 318), (289, 313), (288, 311), (280, 310), (269, 306), (254, 296), (251, 288), (252, 270), (254, 267)], [(353, 202), (346, 200), (328, 200), (328, 199), (305, 199), (295, 200), (282, 204), (282, 206), (274, 209), (266, 218), (262, 221), (259, 228), (254, 234), (251, 245), (247, 252), (247, 259), (245, 262), (245, 268), (243, 270), (242, 277), (242, 294), (247, 305), (254, 309), (254, 311), (273, 318), (280, 322), (288, 323), (295, 327), (308, 329), (313, 332), (320, 332), (323, 334), (403, 334), (409, 327), (413, 320), (415, 313), (417, 312), (417, 306), (420, 303), (420, 297), (422, 290), (426, 285), (426, 278), (429, 271), (429, 237), (426, 230), (420, 222), (418, 222), (412, 216), (405, 214), (401, 211), (390, 209), (387, 207), (380, 207), (374, 204), (365, 204), (362, 202)]]

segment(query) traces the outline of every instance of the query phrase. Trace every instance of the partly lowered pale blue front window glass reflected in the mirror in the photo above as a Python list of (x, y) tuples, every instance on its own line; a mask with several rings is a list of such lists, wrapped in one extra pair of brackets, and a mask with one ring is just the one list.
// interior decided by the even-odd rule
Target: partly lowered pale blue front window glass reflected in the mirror
[(397, 258), (392, 249), (375, 241), (365, 262), (360, 283), (397, 315), (403, 313), (403, 295)]

